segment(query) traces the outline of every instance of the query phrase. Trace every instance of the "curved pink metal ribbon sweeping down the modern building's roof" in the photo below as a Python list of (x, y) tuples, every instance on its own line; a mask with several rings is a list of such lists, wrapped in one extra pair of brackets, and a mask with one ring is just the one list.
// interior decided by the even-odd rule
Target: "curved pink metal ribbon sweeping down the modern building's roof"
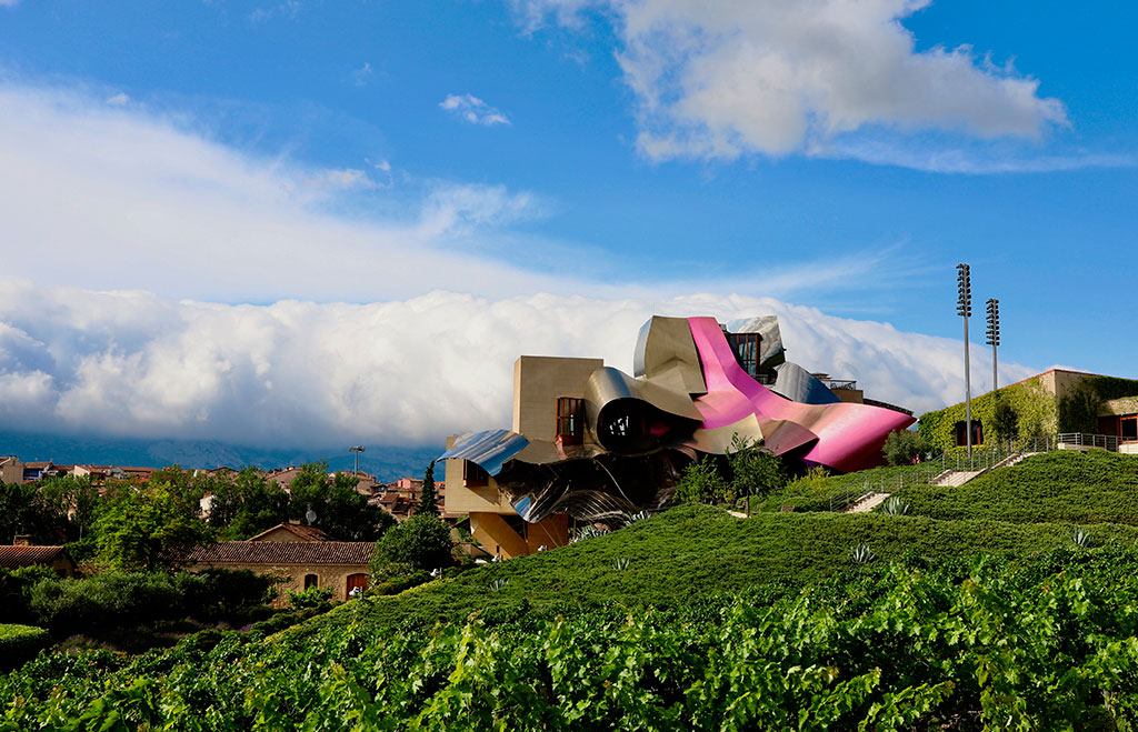
[(916, 422), (869, 405), (805, 405), (784, 399), (743, 371), (715, 318), (687, 318), (687, 323), (707, 382), (707, 393), (695, 399), (706, 429), (734, 424), (751, 414), (760, 422), (793, 422), (818, 436), (805, 459), (851, 473), (881, 465), (885, 436)]

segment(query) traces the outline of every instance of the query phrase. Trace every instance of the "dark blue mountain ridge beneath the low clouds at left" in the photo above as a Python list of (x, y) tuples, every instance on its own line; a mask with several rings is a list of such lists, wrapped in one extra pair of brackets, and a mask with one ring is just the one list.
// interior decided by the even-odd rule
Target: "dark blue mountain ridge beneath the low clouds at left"
[[(445, 450), (442, 446), (366, 446), (360, 454), (360, 469), (378, 480), (422, 477), (427, 464)], [(51, 460), (61, 465), (124, 465), (165, 467), (240, 468), (253, 465), (263, 469), (328, 460), (331, 471), (351, 471), (355, 458), (335, 448), (270, 449), (204, 440), (141, 440), (85, 435), (0, 432), (0, 456), (15, 455), (20, 460)]]

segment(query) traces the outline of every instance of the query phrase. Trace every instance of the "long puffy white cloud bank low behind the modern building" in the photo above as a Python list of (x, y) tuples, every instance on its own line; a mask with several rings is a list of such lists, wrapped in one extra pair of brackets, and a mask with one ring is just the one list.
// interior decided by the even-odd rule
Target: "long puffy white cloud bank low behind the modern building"
[[(454, 432), (509, 426), (521, 353), (600, 356), (630, 371), (653, 313), (775, 314), (792, 360), (857, 379), (867, 396), (924, 410), (963, 392), (957, 341), (766, 298), (437, 291), (368, 305), (231, 306), (0, 278), (0, 418), (17, 430), (253, 446), (442, 444)], [(1032, 373), (1000, 366), (1005, 383)], [(978, 357), (973, 374), (984, 368)]]

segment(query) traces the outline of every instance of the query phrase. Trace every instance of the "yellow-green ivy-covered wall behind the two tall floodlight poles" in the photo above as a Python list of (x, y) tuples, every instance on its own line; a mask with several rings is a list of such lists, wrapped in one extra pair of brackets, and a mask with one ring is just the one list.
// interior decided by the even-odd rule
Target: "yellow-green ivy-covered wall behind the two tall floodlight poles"
[[(1045, 434), (1054, 434), (1058, 427), (1058, 405), (1042, 384), (1039, 376), (1022, 381), (1011, 386), (1004, 386), (998, 392), (1016, 416), (1016, 438), (1031, 439)], [(988, 392), (972, 400), (972, 418), (984, 425), (984, 441), (991, 443), (992, 411), (996, 407), (996, 394)], [(956, 447), (956, 423), (964, 422), (964, 402), (953, 405), (938, 411), (926, 411), (921, 415), (918, 430), (933, 449), (949, 451)]]

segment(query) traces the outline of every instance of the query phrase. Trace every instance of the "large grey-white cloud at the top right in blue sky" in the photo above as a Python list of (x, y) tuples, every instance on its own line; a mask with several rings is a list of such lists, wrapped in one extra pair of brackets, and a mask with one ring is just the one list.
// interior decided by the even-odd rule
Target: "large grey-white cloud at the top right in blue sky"
[(971, 47), (918, 51), (931, 0), (514, 0), (529, 27), (616, 17), (638, 144), (652, 158), (787, 155), (861, 131), (1034, 139), (1066, 124), (1039, 82)]

